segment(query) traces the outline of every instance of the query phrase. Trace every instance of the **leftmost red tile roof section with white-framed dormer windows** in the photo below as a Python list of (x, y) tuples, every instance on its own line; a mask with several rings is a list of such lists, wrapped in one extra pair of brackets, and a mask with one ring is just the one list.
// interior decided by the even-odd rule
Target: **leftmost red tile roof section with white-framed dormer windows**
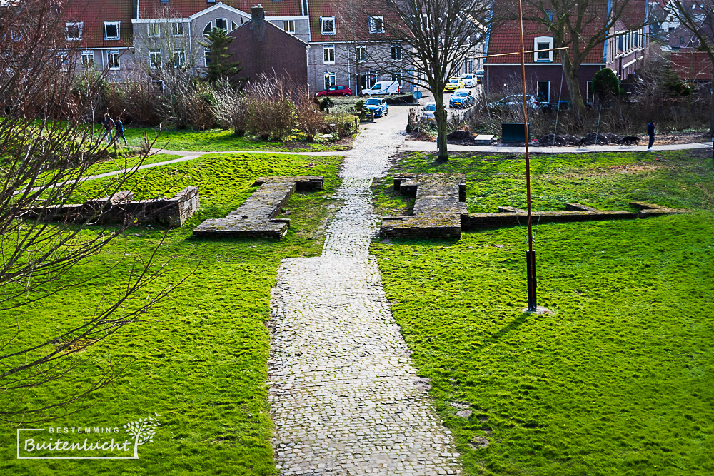
[[(76, 48), (119, 48), (131, 46), (131, 1), (119, 0), (71, 0), (62, 8), (64, 21), (81, 21), (81, 40), (68, 41)], [(104, 39), (104, 22), (121, 21), (119, 40)]]

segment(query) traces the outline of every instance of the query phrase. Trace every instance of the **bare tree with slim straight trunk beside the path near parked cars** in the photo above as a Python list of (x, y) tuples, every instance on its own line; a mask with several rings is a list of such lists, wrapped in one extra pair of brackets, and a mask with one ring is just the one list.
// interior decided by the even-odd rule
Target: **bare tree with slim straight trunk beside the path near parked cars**
[[(472, 56), (471, 48), (482, 41), (491, 18), (486, 0), (367, 0), (360, 9), (369, 34), (401, 44), (406, 66), (403, 81), (423, 86), (436, 102), (438, 161), (448, 161), (446, 106), (443, 90), (449, 76)], [(383, 71), (390, 71), (391, 51), (370, 54)]]

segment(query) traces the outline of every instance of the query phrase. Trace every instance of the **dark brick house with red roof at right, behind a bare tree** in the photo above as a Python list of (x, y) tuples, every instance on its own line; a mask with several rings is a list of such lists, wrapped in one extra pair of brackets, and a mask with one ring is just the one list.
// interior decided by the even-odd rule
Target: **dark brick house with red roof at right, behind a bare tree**
[[(602, 45), (588, 51), (578, 69), (580, 93), (586, 103), (593, 103), (595, 94), (592, 90), (592, 80), (600, 69), (610, 68), (620, 79), (626, 79), (636, 69), (636, 64), (644, 57), (647, 46), (646, 27), (641, 24), (646, 18), (647, 2), (633, 0), (630, 11), (615, 23), (610, 34), (616, 35)], [(506, 8), (505, 5), (501, 7)], [(641, 8), (640, 8), (641, 7)], [(498, 1), (494, 8), (499, 8)], [(637, 25), (637, 29), (628, 27)], [(583, 36), (588, 34), (588, 27)], [(590, 31), (593, 34), (593, 31)], [(523, 40), (526, 51), (526, 87), (529, 93), (538, 96), (543, 103), (554, 104), (569, 98), (568, 86), (563, 76), (563, 66), (556, 51), (543, 51), (558, 47), (548, 29), (538, 21), (523, 22)], [(511, 19), (492, 26), (486, 37), (485, 52), (487, 55), (508, 54), (487, 58), (484, 61), (484, 82), (486, 93), (497, 93), (518, 89), (521, 84), (521, 55), (517, 52), (521, 47), (521, 36), (518, 20)], [(514, 84), (514, 81), (517, 83)]]

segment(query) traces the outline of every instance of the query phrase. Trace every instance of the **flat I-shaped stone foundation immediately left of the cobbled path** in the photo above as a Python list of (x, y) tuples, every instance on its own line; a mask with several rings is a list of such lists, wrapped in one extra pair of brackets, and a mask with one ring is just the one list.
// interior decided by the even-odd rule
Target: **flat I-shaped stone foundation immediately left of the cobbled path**
[(225, 218), (206, 220), (193, 230), (193, 236), (229, 238), (276, 238), (288, 233), (289, 218), (276, 218), (297, 191), (323, 189), (324, 177), (261, 177), (248, 200)]

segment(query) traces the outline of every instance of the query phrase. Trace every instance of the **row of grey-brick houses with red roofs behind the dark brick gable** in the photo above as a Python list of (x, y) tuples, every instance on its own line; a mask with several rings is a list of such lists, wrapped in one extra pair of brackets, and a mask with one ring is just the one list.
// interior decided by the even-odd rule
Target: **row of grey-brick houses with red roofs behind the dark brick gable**
[[(346, 13), (344, 4), (271, 0), (261, 6), (265, 21), (308, 44), (311, 92), (321, 91), (326, 78), (353, 91), (382, 79), (401, 82), (405, 68), (401, 45), (386, 41), (388, 20), (378, 12), (359, 18)], [(66, 5), (62, 15), (69, 54), (81, 55), (85, 67), (106, 71), (111, 81), (136, 74), (151, 76), (151, 69), (165, 64), (190, 66), (203, 74), (210, 61), (202, 45), (204, 36), (214, 28), (229, 34), (238, 31), (251, 21), (252, 7), (258, 6), (249, 0), (70, 0)], [(253, 59), (257, 61), (256, 56)]]

